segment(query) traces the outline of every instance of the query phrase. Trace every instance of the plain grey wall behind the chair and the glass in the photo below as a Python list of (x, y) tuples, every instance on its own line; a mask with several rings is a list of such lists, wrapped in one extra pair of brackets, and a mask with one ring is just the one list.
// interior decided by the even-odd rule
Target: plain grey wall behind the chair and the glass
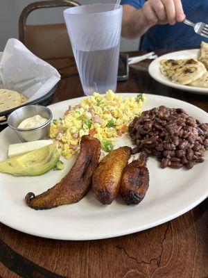
[[(9, 38), (18, 38), (18, 22), (21, 11), (35, 0), (1, 0), (0, 1), (0, 51), (3, 51)], [(80, 0), (80, 4), (87, 3), (116, 3), (116, 0)], [(64, 22), (65, 8), (46, 8), (35, 10), (28, 16), (28, 24), (57, 24)], [(121, 38), (121, 51), (134, 51), (139, 48), (139, 40)]]

